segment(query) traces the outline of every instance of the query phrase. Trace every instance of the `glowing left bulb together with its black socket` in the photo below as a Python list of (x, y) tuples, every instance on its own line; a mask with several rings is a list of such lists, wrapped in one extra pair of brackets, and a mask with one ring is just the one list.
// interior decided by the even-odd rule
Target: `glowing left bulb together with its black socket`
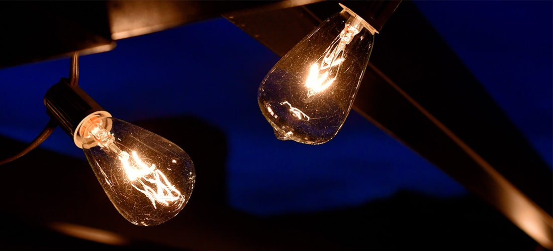
[(195, 183), (190, 157), (153, 132), (112, 116), (65, 79), (46, 92), (48, 114), (83, 149), (109, 200), (138, 226), (176, 216)]

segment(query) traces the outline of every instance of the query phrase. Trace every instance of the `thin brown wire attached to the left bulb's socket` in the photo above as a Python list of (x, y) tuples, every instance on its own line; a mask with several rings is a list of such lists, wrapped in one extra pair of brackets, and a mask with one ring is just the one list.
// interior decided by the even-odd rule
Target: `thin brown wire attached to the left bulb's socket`
[[(79, 82), (79, 54), (75, 52), (74, 54), (71, 55), (71, 65), (69, 68), (69, 83), (71, 86), (76, 86), (78, 82)], [(42, 132), (40, 132), (40, 134), (36, 136), (36, 138), (33, 141), (31, 141), (29, 145), (27, 145), (27, 147), (25, 147), (22, 151), (20, 151), (19, 153), (15, 154), (12, 157), (2, 159), (0, 161), (0, 165), (12, 162), (15, 159), (29, 153), (34, 148), (38, 147), (42, 142), (46, 140), (46, 138), (48, 138), (52, 134), (52, 132), (54, 131), (54, 129), (56, 129), (57, 126), (58, 126), (58, 123), (55, 120), (50, 119), (50, 121), (48, 121), (48, 124), (46, 124), (46, 126), (42, 130)]]

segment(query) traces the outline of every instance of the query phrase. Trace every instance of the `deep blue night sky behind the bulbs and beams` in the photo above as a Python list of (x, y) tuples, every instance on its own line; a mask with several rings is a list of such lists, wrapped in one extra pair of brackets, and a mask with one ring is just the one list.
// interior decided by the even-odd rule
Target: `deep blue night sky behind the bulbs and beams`
[[(551, 166), (553, 2), (416, 3)], [(79, 84), (122, 120), (193, 115), (223, 130), (229, 143), (228, 195), (239, 210), (259, 215), (324, 210), (399, 189), (466, 193), (354, 111), (323, 145), (276, 140), (256, 93), (278, 59), (216, 18), (119, 40), (113, 51), (82, 56)], [(0, 134), (33, 140), (49, 119), (44, 93), (68, 70), (69, 58), (1, 69)], [(41, 147), (85, 158), (60, 129)]]

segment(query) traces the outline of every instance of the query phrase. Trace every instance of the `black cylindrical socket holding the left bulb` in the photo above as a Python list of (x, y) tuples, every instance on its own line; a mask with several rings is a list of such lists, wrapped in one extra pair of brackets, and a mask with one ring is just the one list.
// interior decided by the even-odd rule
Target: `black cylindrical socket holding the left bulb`
[(58, 122), (79, 148), (82, 148), (79, 127), (85, 121), (90, 120), (91, 116), (111, 117), (79, 86), (70, 86), (67, 78), (61, 78), (59, 83), (46, 91), (44, 105), (46, 114)]

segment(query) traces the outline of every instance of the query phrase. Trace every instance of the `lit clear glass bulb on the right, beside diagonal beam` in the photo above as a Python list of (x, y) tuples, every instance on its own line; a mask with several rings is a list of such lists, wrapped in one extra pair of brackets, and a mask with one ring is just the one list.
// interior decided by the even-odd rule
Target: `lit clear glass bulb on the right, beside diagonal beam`
[(263, 79), (258, 103), (280, 140), (321, 144), (341, 129), (367, 68), (375, 29), (342, 4)]

